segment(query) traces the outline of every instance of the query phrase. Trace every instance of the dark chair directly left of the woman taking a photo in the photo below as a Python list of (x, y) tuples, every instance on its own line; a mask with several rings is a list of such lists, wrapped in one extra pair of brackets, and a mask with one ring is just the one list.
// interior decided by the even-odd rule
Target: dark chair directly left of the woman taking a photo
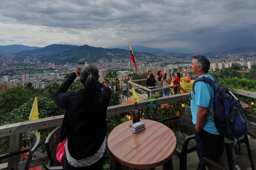
[(62, 169), (61, 163), (56, 158), (57, 147), (60, 142), (60, 126), (55, 128), (46, 138), (45, 147), (49, 159), (48, 169)]

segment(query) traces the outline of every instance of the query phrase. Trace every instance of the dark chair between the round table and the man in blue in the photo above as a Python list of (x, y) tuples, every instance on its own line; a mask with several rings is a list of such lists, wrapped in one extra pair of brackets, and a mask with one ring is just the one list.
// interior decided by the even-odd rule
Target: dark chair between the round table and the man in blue
[[(177, 138), (177, 149), (175, 150), (175, 155), (180, 159), (180, 170), (187, 169), (187, 154), (197, 150), (195, 139), (195, 128), (192, 122), (192, 115), (190, 106), (185, 106), (184, 116), (172, 116), (167, 117), (163, 120), (163, 124), (167, 121), (177, 120), (180, 118), (182, 120), (181, 131), (174, 132)], [(189, 131), (192, 135), (186, 134)]]

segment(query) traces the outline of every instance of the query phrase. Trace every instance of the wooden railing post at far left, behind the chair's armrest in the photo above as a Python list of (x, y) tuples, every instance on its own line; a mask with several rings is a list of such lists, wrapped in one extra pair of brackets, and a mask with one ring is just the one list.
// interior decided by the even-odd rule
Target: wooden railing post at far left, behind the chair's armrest
[[(10, 136), (9, 153), (11, 153), (13, 151), (18, 151), (21, 149), (20, 141), (21, 141), (21, 133), (13, 134)], [(17, 170), (19, 162), (20, 162), (20, 155), (16, 155), (16, 156), (8, 158), (7, 169), (8, 170)]]

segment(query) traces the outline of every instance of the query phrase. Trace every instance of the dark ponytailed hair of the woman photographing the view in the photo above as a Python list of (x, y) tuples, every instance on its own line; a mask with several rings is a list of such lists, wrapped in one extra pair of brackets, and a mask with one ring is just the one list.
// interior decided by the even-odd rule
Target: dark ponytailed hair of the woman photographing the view
[(84, 84), (83, 96), (87, 101), (92, 101), (92, 97), (96, 92), (96, 86), (99, 79), (99, 70), (97, 66), (86, 65), (81, 71), (81, 82)]

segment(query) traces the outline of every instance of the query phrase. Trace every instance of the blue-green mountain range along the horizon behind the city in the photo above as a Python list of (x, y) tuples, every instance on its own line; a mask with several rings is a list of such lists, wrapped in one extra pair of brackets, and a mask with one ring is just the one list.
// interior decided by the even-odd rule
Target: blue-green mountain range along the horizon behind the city
[[(130, 56), (129, 46), (120, 46), (119, 48), (99, 48), (91, 47), (89, 45), (73, 46), (52, 44), (43, 48), (29, 47), (23, 45), (0, 46), (0, 54), (12, 54), (17, 57), (36, 57), (42, 62), (54, 62), (55, 64), (76, 63), (78, 61), (96, 62), (100, 59), (115, 61), (115, 58), (127, 58)], [(186, 53), (172, 53), (163, 49), (149, 48), (145, 46), (132, 46), (134, 56), (139, 57), (156, 57), (176, 56), (184, 57), (193, 54)], [(229, 53), (246, 52), (254, 50), (256, 47), (237, 48), (229, 50)]]

